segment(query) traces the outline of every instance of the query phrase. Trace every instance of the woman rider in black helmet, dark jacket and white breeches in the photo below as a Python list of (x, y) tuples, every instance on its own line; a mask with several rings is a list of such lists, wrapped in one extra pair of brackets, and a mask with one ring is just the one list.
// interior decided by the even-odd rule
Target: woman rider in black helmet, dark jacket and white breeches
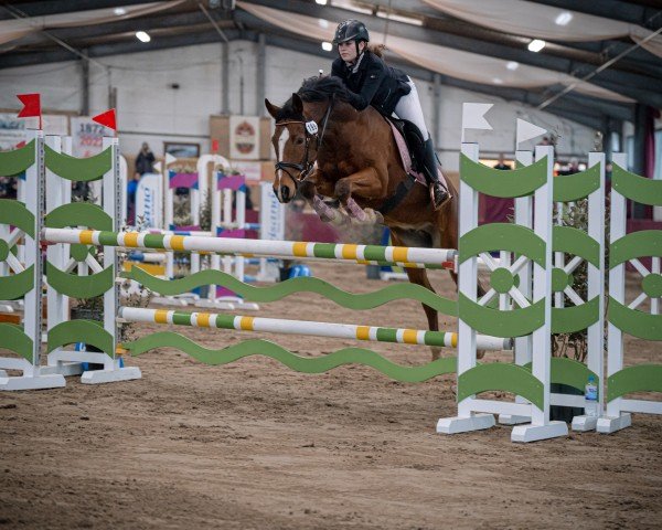
[(416, 85), (403, 71), (386, 66), (384, 61), (369, 49), (369, 42), (370, 35), (363, 22), (341, 22), (333, 38), (340, 56), (333, 61), (331, 75), (343, 81), (352, 94), (349, 103), (356, 110), (372, 105), (385, 116), (395, 112), (399, 118), (407, 119), (418, 127), (425, 140), (423, 173), (437, 209), (446, 202), (449, 193), (445, 183), (439, 180), (437, 157), (425, 125)]

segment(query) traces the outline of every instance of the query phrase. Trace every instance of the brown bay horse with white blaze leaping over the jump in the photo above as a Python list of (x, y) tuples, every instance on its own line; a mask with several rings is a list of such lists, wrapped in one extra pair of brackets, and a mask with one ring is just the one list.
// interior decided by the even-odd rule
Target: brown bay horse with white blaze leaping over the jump
[[(428, 189), (412, 186), (386, 118), (372, 106), (357, 112), (348, 100), (342, 81), (332, 76), (306, 80), (282, 107), (265, 99), (276, 121), (271, 142), (278, 200), (290, 202), (300, 192), (323, 221), (380, 222), (391, 229), (395, 245), (457, 248), (458, 193), (452, 183), (450, 200), (435, 210)], [(339, 208), (323, 198), (334, 199)], [(405, 271), (409, 282), (435, 293), (425, 268)], [(457, 287), (457, 275), (449, 272)], [(423, 308), (429, 329), (438, 331), (437, 310)], [(431, 350), (433, 360), (438, 359), (439, 350)]]

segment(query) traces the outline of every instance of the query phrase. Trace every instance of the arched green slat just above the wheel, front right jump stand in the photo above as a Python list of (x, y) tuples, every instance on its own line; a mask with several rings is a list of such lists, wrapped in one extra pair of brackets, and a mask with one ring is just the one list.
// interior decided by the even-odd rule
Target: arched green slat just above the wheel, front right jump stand
[[(508, 171), (501, 171), (508, 173)], [(519, 224), (483, 224), (460, 237), (459, 263), (481, 252), (511, 251), (545, 266), (545, 242), (533, 230)]]

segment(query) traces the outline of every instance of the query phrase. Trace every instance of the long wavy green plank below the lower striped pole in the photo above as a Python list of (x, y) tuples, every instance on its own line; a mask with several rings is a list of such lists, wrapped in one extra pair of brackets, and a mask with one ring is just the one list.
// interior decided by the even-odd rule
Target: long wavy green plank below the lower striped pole
[(286, 367), (301, 373), (324, 373), (343, 364), (371, 367), (395, 381), (417, 383), (457, 370), (457, 359), (447, 357), (420, 367), (395, 364), (375, 351), (364, 348), (343, 348), (323, 357), (299, 357), (291, 351), (261, 339), (250, 339), (220, 350), (207, 349), (182, 335), (161, 331), (122, 344), (132, 356), (154, 348), (177, 348), (201, 362), (212, 365), (228, 364), (249, 356), (276, 359)]

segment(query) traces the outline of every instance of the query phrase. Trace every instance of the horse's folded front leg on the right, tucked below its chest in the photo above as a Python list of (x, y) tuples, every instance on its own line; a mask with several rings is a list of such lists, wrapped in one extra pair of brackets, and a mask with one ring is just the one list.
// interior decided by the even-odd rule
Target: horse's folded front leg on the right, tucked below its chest
[(380, 212), (366, 208), (361, 208), (353, 199), (352, 194), (364, 199), (383, 199), (386, 197), (386, 186), (380, 178), (380, 172), (375, 168), (365, 168), (361, 171), (340, 179), (335, 183), (335, 197), (344, 206), (350, 218), (359, 223), (383, 224), (384, 218)]

